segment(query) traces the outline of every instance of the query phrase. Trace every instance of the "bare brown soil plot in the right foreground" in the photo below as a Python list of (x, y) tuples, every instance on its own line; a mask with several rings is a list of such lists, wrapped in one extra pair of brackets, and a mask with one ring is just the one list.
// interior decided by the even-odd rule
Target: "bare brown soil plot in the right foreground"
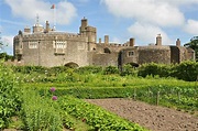
[(198, 117), (175, 109), (132, 99), (87, 99), (86, 101), (139, 123), (152, 131), (198, 131)]

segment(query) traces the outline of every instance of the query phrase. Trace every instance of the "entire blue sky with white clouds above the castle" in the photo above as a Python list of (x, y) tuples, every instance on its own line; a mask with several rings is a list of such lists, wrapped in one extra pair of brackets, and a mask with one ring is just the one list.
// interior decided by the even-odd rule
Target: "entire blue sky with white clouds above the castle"
[[(161, 34), (164, 45), (182, 44), (198, 35), (198, 0), (0, 0), (1, 41), (12, 54), (12, 39), (24, 26), (32, 28), (40, 17), (40, 24), (50, 21), (56, 7), (56, 30), (78, 33), (80, 20), (97, 28), (97, 37), (109, 35), (111, 42), (125, 43), (130, 37), (135, 44), (155, 43)], [(0, 51), (2, 52), (2, 51)]]

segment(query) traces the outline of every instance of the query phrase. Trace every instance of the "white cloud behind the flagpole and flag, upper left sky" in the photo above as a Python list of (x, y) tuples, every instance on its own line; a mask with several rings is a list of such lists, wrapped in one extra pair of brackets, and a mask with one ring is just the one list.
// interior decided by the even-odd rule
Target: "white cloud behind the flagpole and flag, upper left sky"
[[(34, 20), (36, 14), (40, 17), (40, 21), (43, 23), (50, 21), (53, 23), (53, 9), (52, 3), (44, 0), (4, 0), (10, 6), (14, 17), (19, 17), (25, 20)], [(56, 7), (56, 22), (57, 24), (68, 24), (77, 17), (77, 10), (67, 0), (61, 1)]]

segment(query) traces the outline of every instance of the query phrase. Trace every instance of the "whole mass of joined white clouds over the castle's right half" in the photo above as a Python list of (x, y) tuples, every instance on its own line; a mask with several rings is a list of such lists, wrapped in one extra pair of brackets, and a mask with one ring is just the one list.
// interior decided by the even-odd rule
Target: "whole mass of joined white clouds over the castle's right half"
[(185, 15), (185, 11), (195, 10), (198, 0), (100, 0), (100, 3), (114, 17), (131, 20), (133, 24), (128, 31), (144, 44), (155, 43), (157, 34), (162, 34), (163, 44), (175, 43), (165, 32), (168, 28), (198, 33), (198, 21), (187, 21)]

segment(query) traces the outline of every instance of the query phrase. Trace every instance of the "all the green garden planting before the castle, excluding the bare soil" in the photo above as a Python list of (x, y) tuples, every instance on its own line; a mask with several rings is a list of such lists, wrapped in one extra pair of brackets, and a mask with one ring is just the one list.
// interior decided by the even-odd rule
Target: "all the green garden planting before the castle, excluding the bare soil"
[(1, 63), (0, 73), (0, 129), (147, 130), (84, 100), (90, 98), (141, 100), (198, 116), (196, 62), (125, 65), (121, 73), (112, 66), (46, 68)]

